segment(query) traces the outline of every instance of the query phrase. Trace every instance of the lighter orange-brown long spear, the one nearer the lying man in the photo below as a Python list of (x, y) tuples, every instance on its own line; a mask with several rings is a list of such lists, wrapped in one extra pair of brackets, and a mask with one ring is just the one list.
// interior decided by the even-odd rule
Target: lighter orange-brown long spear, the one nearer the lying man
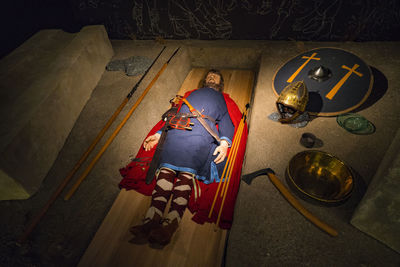
[(129, 110), (129, 112), (125, 115), (124, 119), (122, 122), (117, 126), (115, 131), (111, 134), (111, 136), (107, 139), (106, 143), (103, 145), (103, 147), (100, 149), (100, 151), (97, 153), (97, 155), (94, 157), (94, 159), (90, 162), (86, 170), (82, 173), (82, 175), (78, 178), (78, 180), (75, 182), (75, 184), (71, 187), (71, 189), (68, 191), (68, 193), (65, 195), (64, 200), (69, 200), (71, 196), (75, 193), (75, 191), (78, 189), (79, 185), (82, 183), (82, 181), (86, 178), (86, 176), (89, 174), (89, 172), (93, 169), (94, 165), (97, 163), (97, 161), (100, 159), (100, 157), (104, 154), (108, 146), (111, 144), (111, 142), (114, 140), (114, 138), (118, 135), (119, 131), (122, 129), (122, 127), (125, 125), (125, 123), (128, 121), (128, 119), (131, 117), (132, 113), (135, 111), (135, 109), (139, 106), (139, 104), (142, 102), (143, 98), (146, 96), (146, 94), (149, 92), (151, 87), (153, 87), (154, 83), (157, 81), (158, 77), (164, 72), (164, 70), (167, 68), (169, 62), (171, 59), (175, 56), (175, 54), (178, 52), (179, 48), (175, 50), (175, 52), (172, 54), (172, 56), (169, 58), (167, 62), (161, 67), (161, 69), (158, 71), (156, 76), (154, 76), (153, 80), (150, 82), (150, 84), (146, 87), (146, 89), (143, 91), (142, 95), (139, 97), (139, 99), (136, 101), (136, 103), (132, 106), (132, 108)]

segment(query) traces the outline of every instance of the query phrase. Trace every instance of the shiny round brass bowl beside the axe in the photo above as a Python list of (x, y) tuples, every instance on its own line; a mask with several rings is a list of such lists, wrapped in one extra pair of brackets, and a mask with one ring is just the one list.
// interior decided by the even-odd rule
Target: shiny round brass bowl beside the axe
[(353, 174), (340, 159), (326, 152), (307, 150), (296, 154), (286, 170), (299, 192), (324, 203), (339, 203), (353, 190)]

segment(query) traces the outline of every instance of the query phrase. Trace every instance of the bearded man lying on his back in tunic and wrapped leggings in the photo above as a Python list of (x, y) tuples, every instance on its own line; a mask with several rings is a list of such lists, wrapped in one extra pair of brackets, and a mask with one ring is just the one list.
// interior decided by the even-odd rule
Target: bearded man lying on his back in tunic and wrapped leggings
[[(201, 187), (200, 184), (211, 185), (220, 182), (235, 131), (231, 117), (236, 117), (235, 125), (238, 123), (238, 117), (240, 120), (239, 109), (229, 96), (222, 93), (223, 88), (221, 73), (210, 70), (205, 76), (202, 88), (187, 94), (181, 102), (180, 114), (190, 116), (194, 108), (201, 113), (202, 119), (192, 117), (191, 130), (168, 130), (162, 146), (156, 184), (151, 192), (151, 205), (143, 224), (131, 227), (130, 231), (134, 235), (131, 242), (142, 243), (143, 240), (148, 240), (162, 246), (168, 244), (189, 204), (192, 191), (198, 190), (196, 187)], [(230, 100), (227, 101), (227, 98)], [(229, 106), (235, 106), (235, 116), (228, 112), (227, 103)], [(159, 140), (160, 132), (148, 136), (143, 144), (144, 150), (153, 150)], [(121, 174), (127, 177), (128, 172), (125, 168)], [(126, 184), (121, 182), (120, 186), (129, 188)], [(237, 193), (237, 189), (238, 185), (233, 191)], [(170, 209), (163, 218), (171, 196)], [(235, 198), (234, 194), (233, 203)], [(233, 213), (233, 207), (231, 210)]]

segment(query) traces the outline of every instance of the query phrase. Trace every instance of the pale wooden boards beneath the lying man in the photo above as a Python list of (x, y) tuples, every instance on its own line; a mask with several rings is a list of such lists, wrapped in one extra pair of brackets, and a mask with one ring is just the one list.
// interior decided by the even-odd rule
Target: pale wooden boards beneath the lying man
[[(194, 68), (178, 94), (198, 88), (207, 69)], [(225, 92), (244, 109), (250, 101), (254, 73), (248, 70), (221, 70)], [(214, 224), (199, 225), (186, 210), (171, 243), (163, 249), (129, 243), (129, 227), (141, 223), (150, 197), (134, 190), (121, 190), (78, 266), (220, 266), (225, 249), (226, 230)], [(167, 210), (167, 209), (166, 209)]]

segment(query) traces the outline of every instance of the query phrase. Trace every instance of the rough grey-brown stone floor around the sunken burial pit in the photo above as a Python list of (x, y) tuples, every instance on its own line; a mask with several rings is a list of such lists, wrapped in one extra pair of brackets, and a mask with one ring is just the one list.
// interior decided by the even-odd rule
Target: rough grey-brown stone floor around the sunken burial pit
[[(142, 55), (154, 58), (161, 45), (153, 41), (112, 41), (114, 58)], [(399, 266), (400, 254), (359, 231), (349, 222), (371, 183), (400, 122), (399, 43), (296, 43), (264, 41), (168, 41), (168, 53), (183, 45), (193, 66), (254, 68), (258, 71), (249, 118), (249, 138), (243, 173), (270, 167), (283, 183), (290, 158), (304, 148), (298, 140), (312, 132), (323, 141), (319, 149), (330, 152), (356, 173), (352, 197), (337, 207), (319, 206), (300, 200), (316, 216), (339, 231), (330, 237), (295, 211), (265, 176), (251, 185), (242, 183), (229, 234), (226, 266)], [(352, 51), (373, 70), (374, 91), (357, 111), (372, 121), (376, 132), (359, 136), (339, 127), (334, 117), (318, 117), (306, 128), (295, 129), (268, 120), (275, 111), (271, 83), (275, 71), (304, 50), (329, 46)], [(152, 77), (168, 55), (149, 73)], [(171, 64), (172, 66), (172, 64)], [(172, 67), (171, 67), (172, 68)], [(179, 70), (179, 66), (174, 66)], [(186, 74), (183, 75), (183, 77)], [(107, 119), (139, 77), (104, 72), (98, 86), (78, 118), (70, 136), (49, 171), (39, 192), (29, 200), (0, 202), (0, 266), (75, 266), (118, 195), (118, 169), (136, 153), (144, 134), (159, 119), (171, 92), (152, 92), (99, 160), (69, 201), (59, 198), (32, 232), (27, 243), (15, 246), (32, 217), (45, 205), (55, 188), (81, 157)], [(151, 79), (146, 78), (130, 103), (134, 103)], [(168, 76), (160, 82), (166, 82)], [(149, 109), (151, 99), (163, 99)], [(161, 98), (160, 98), (161, 96)], [(153, 97), (153, 98), (152, 98)], [(131, 104), (122, 111), (127, 112)], [(92, 157), (104, 144), (123, 115), (106, 133)], [(96, 151), (97, 150), (97, 151)], [(90, 158), (91, 159), (91, 158)], [(89, 160), (90, 160), (89, 159)], [(82, 170), (86, 165), (82, 166)], [(129, 212), (129, 211), (127, 211)], [(398, 229), (397, 229), (398, 233)], [(134, 262), (133, 262), (134, 264)]]

